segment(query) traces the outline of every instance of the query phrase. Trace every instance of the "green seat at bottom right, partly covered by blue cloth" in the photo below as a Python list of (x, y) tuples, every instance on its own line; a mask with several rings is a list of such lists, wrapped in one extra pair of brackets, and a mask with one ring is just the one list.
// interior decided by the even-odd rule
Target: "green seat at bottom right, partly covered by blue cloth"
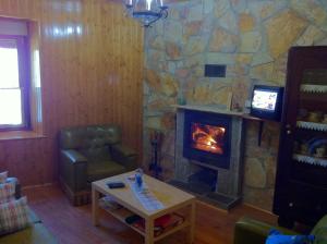
[[(279, 230), (282, 234), (298, 235), (295, 231), (281, 227), (274, 227), (247, 217), (241, 218), (234, 228), (234, 244), (265, 244), (271, 229)], [(327, 244), (327, 216), (322, 218), (311, 231), (316, 236), (317, 243)]]

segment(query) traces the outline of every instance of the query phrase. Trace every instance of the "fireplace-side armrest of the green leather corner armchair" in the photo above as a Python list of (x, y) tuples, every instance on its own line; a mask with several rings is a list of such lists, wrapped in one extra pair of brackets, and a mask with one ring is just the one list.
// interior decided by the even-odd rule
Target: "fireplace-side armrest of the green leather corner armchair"
[(111, 147), (111, 157), (114, 161), (123, 164), (126, 170), (134, 170), (137, 168), (137, 154), (126, 146), (120, 144), (113, 145)]

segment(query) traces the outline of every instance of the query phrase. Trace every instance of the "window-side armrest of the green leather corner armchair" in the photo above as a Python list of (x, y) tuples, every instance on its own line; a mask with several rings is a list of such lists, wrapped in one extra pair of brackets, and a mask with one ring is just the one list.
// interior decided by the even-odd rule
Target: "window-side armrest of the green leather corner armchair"
[(72, 192), (86, 188), (87, 158), (76, 150), (61, 150), (60, 169), (61, 181), (63, 181)]

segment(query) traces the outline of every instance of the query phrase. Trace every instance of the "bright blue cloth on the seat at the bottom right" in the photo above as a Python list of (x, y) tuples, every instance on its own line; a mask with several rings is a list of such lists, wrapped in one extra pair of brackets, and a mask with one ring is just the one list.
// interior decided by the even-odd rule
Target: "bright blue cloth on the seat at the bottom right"
[(314, 235), (284, 235), (272, 229), (266, 244), (311, 244), (314, 239)]

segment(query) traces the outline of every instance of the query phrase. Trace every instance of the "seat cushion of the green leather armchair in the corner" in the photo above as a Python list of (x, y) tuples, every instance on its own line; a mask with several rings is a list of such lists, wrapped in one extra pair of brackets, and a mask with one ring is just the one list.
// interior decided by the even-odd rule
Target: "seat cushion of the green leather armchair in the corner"
[(87, 182), (98, 181), (123, 173), (125, 168), (113, 161), (98, 161), (87, 164)]

